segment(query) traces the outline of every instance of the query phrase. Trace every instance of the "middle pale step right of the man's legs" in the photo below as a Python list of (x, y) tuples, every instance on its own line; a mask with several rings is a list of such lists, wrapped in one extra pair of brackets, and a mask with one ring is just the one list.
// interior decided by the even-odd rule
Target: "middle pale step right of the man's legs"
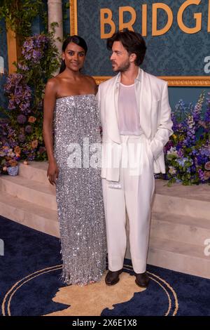
[(204, 240), (210, 238), (210, 219), (153, 212), (151, 237), (203, 246)]

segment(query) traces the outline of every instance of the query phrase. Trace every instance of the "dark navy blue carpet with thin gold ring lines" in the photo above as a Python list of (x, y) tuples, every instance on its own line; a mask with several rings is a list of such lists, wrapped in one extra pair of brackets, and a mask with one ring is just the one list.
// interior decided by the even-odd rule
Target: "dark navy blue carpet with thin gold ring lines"
[[(38, 316), (66, 310), (52, 301), (60, 282), (59, 239), (0, 216), (1, 315)], [(2, 253), (2, 242), (4, 253)], [(3, 254), (3, 255), (2, 255)], [(130, 260), (125, 272), (133, 275)], [(148, 265), (148, 289), (104, 308), (109, 316), (210, 316), (210, 280)], [(119, 286), (120, 288), (120, 286)]]

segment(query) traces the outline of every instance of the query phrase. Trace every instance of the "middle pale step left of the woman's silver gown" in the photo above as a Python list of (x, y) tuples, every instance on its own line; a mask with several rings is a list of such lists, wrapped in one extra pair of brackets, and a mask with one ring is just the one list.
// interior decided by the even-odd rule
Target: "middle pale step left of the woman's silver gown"
[(1, 176), (0, 193), (3, 192), (38, 206), (57, 210), (55, 186), (50, 185), (50, 183), (48, 185), (38, 183), (21, 176)]

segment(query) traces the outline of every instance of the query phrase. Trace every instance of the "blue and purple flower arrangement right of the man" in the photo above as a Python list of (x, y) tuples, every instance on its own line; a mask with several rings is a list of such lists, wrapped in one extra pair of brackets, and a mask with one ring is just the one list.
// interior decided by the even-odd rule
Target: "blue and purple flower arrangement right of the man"
[(172, 113), (174, 134), (165, 146), (168, 185), (210, 183), (209, 95), (205, 110), (203, 92), (194, 107), (180, 100)]

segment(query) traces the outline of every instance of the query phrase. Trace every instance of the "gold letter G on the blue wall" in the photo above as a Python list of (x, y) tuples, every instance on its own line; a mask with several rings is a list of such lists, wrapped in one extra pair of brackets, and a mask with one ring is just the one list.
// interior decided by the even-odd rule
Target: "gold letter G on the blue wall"
[(186, 8), (190, 5), (199, 5), (201, 0), (187, 0), (184, 4), (181, 5), (179, 8), (179, 12), (177, 15), (177, 22), (179, 27), (182, 29), (183, 32), (188, 34), (193, 34), (199, 32), (202, 28), (202, 13), (195, 13), (193, 17), (195, 18), (196, 25), (195, 27), (186, 27), (183, 23), (183, 12)]

